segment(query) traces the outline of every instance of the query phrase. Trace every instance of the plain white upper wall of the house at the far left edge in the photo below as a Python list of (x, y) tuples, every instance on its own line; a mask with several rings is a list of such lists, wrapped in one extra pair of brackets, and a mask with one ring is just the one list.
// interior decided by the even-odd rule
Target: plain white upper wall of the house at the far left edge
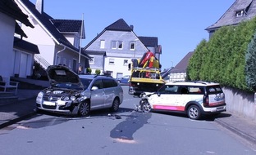
[(4, 78), (13, 76), (14, 52), (13, 40), (15, 32), (15, 20), (0, 12), (0, 75)]

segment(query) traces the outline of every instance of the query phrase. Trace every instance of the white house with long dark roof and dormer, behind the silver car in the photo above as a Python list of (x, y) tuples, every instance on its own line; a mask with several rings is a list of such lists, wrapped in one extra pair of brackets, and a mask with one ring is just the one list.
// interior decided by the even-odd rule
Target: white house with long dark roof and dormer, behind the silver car
[(34, 55), (34, 60), (44, 69), (53, 64), (66, 65), (75, 72), (79, 65), (89, 67), (89, 55), (80, 51), (80, 39), (85, 38), (83, 20), (54, 19), (43, 11), (43, 0), (37, 0), (36, 5), (29, 0), (15, 2), (34, 26), (31, 30), (21, 24), (28, 36), (25, 41), (39, 47), (40, 54)]

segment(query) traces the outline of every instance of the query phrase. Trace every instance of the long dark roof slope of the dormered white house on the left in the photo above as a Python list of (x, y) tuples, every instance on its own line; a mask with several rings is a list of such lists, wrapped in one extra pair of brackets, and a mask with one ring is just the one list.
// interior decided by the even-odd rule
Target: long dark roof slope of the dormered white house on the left
[[(35, 16), (35, 18), (37, 20), (39, 20), (39, 22), (41, 24), (43, 24), (43, 26), (45, 27), (45, 29), (48, 30), (49, 33), (51, 33), (51, 35), (53, 35), (53, 38), (55, 39), (55, 41), (57, 42), (57, 44), (62, 44), (64, 46), (67, 46), (68, 48), (70, 48), (73, 51), (79, 52), (79, 49), (76, 48), (75, 46), (73, 46), (71, 44), (71, 42), (69, 42), (62, 33), (60, 33), (57, 28), (54, 26), (54, 24), (51, 22), (51, 20), (53, 20), (53, 17), (51, 17), (50, 15), (46, 14), (45, 12), (39, 13), (38, 10), (36, 10), (34, 4), (32, 2), (30, 2), (29, 0), (21, 0), (21, 2), (25, 5), (25, 7), (27, 7), (30, 12)], [(85, 53), (82, 53), (82, 55), (84, 55), (85, 57), (89, 58), (89, 55), (86, 55)]]

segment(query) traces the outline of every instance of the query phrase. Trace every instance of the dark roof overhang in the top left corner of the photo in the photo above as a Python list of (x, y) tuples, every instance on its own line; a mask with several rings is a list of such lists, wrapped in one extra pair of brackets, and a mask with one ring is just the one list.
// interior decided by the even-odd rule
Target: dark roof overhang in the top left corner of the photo
[(14, 2), (14, 0), (1, 0), (0, 1), (0, 12), (11, 16), (15, 20), (21, 21), (21, 23), (25, 24), (26, 26), (30, 26), (34, 28), (33, 24), (30, 23), (28, 20), (28, 15), (25, 15), (20, 7)]

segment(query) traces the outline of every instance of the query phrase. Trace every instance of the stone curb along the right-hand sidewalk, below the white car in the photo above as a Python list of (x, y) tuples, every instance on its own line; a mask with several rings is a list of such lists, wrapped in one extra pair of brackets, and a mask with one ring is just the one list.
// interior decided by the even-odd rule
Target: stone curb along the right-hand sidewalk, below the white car
[(245, 132), (240, 131), (239, 129), (236, 129), (234, 126), (230, 126), (230, 125), (228, 125), (226, 122), (223, 122), (223, 121), (221, 121), (221, 120), (216, 119), (216, 122), (217, 122), (219, 125), (225, 127), (226, 129), (232, 131), (232, 132), (235, 133), (236, 135), (239, 135), (240, 137), (244, 138), (245, 140), (249, 140), (251, 143), (256, 144), (256, 139), (255, 139), (253, 136), (248, 135), (248, 134), (246, 134)]

